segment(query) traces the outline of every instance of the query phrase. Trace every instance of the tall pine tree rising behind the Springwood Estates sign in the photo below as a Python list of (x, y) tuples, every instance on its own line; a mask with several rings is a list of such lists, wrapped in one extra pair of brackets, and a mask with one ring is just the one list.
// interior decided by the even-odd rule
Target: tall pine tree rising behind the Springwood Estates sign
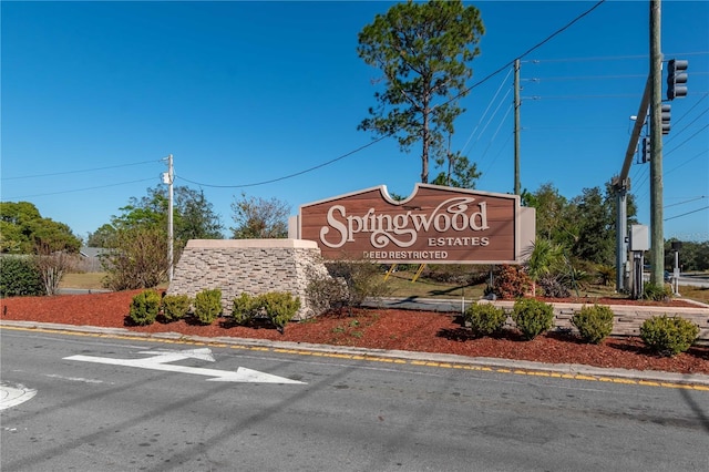
[(398, 3), (359, 33), (357, 52), (382, 72), (386, 89), (358, 130), (395, 135), (403, 152), (421, 142), (422, 183), (430, 160), (446, 160), (444, 136), (463, 112), (458, 102), (483, 33), (480, 11), (460, 0)]

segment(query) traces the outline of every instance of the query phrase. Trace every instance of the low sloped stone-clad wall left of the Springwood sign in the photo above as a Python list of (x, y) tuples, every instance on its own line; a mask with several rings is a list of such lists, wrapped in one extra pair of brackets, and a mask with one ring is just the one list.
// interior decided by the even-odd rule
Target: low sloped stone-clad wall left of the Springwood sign
[(168, 295), (194, 298), (218, 288), (230, 315), (234, 298), (289, 291), (300, 299), (295, 319), (312, 316), (306, 288), (308, 274), (327, 274), (317, 243), (302, 239), (191, 239), (175, 266)]

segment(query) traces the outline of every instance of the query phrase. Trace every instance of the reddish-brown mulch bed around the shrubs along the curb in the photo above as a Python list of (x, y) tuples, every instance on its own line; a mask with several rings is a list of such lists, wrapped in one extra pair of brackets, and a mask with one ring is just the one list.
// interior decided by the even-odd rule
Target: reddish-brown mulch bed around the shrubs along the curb
[[(286, 327), (282, 335), (268, 327), (230, 326), (227, 318), (222, 318), (209, 326), (194, 324), (188, 319), (165, 324), (158, 321), (145, 327), (131, 326), (127, 319), (131, 300), (141, 291), (6, 298), (1, 300), (1, 317), (3, 320), (127, 328), (140, 332), (269, 339), (709, 374), (709, 347), (707, 346), (695, 346), (674, 358), (665, 358), (649, 352), (643, 341), (637, 338), (609, 338), (597, 346), (583, 343), (573, 335), (557, 332), (540, 336), (532, 341), (522, 340), (515, 332), (475, 339), (462, 327), (460, 318), (453, 314), (361, 309), (356, 310), (351, 317), (347, 314), (329, 314), (302, 322), (292, 322)], [(568, 299), (566, 301), (582, 300), (616, 305), (619, 301), (629, 301), (617, 299)], [(677, 305), (676, 300), (671, 306), (681, 305)]]

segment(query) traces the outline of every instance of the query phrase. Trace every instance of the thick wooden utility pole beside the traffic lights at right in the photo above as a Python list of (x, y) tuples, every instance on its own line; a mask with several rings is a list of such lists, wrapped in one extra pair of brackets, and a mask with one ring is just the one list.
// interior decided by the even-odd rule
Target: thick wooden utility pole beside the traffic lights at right
[(662, 51), (661, 0), (650, 0), (650, 281), (662, 286), (665, 237), (662, 230)]

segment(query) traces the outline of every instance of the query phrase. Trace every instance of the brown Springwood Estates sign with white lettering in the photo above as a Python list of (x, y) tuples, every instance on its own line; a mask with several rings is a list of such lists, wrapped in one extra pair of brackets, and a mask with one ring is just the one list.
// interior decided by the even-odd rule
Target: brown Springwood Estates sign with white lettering
[(534, 242), (534, 217), (518, 195), (417, 184), (397, 202), (382, 185), (300, 206), (298, 237), (330, 259), (520, 264)]

